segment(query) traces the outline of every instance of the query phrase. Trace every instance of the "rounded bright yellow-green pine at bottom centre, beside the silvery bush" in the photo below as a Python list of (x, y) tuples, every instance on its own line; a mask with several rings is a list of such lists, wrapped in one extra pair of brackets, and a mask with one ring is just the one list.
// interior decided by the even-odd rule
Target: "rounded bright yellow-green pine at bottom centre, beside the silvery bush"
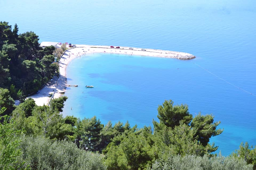
[(106, 164), (108, 169), (146, 169), (155, 160), (156, 150), (151, 141), (151, 128), (144, 127), (138, 131), (125, 131), (121, 136), (116, 136), (106, 150)]

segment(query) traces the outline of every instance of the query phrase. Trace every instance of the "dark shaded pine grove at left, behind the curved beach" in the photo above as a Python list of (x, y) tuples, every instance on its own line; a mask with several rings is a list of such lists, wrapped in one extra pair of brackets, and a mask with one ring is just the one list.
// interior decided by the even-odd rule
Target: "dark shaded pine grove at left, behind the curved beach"
[(15, 99), (23, 99), (15, 91), (38, 91), (58, 69), (53, 63), (55, 48), (42, 49), (38, 40), (32, 31), (18, 34), (17, 24), (12, 31), (8, 22), (0, 22), (0, 87), (9, 89)]

